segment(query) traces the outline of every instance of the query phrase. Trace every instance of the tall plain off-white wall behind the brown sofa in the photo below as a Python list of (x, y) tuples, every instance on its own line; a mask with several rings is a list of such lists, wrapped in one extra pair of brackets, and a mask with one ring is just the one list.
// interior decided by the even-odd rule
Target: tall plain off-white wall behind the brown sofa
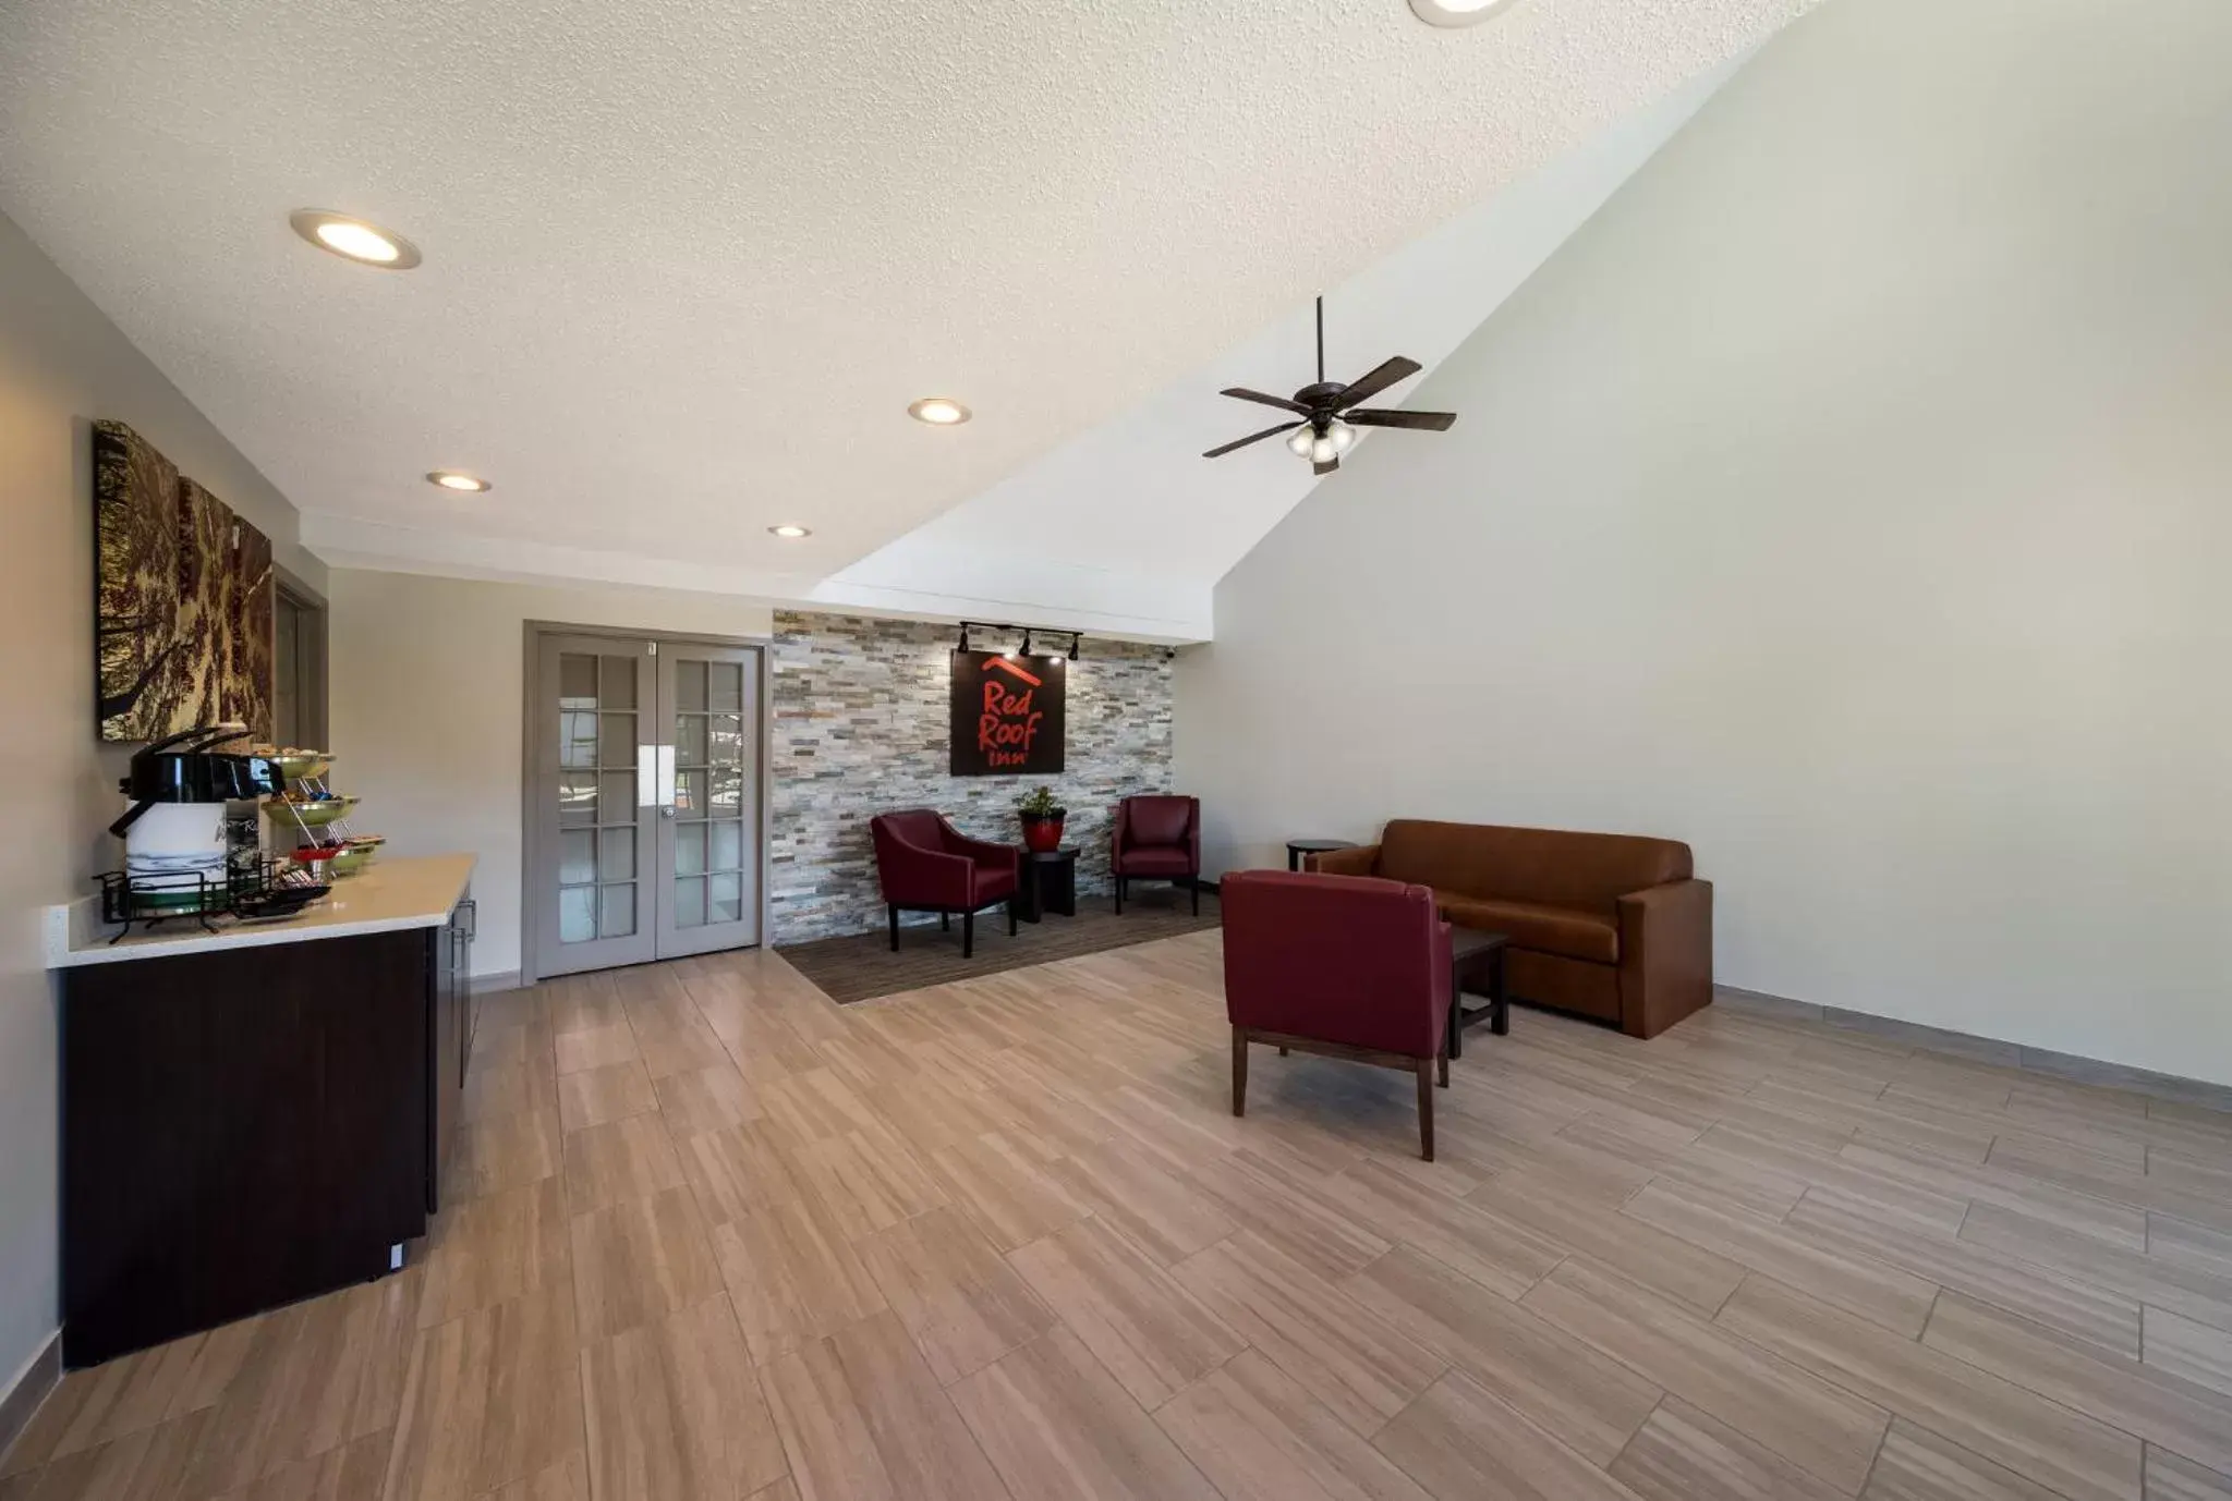
[(2232, 1084), (2232, 7), (1839, 0), (1216, 591), (1219, 865), (1634, 830), (1719, 977)]

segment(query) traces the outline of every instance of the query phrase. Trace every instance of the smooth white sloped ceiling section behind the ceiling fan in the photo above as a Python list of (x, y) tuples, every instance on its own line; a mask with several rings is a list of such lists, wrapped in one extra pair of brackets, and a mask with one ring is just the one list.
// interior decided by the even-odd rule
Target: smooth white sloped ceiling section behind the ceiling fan
[[(1408, 355), (1422, 372), (1373, 401), (1408, 406), (1408, 393), (1748, 58), (1692, 78), (1333, 288), (1326, 294), (1328, 377), (1355, 379), (1388, 355)], [(1210, 595), (1216, 580), (1312, 488), (1341, 484), (1339, 475), (1319, 480), (1277, 442), (1203, 459), (1208, 448), (1277, 419), (1277, 413), (1216, 393), (1248, 386), (1286, 395), (1306, 384), (1315, 366), (1315, 310), (1295, 308), (1138, 406), (841, 569), (815, 589), (815, 598), (1205, 640), (1214, 633)], [(1377, 444), (1415, 442), (1433, 439), (1364, 430), (1348, 468), (1370, 466)]]

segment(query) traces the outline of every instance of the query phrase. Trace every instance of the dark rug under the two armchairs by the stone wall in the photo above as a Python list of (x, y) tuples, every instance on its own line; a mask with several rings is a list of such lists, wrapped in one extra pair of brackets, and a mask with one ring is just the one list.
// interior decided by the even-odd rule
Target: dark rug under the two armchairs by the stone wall
[(1027, 963), (1154, 943), (1216, 923), (1214, 892), (1201, 892), (1201, 917), (1194, 917), (1187, 892), (1154, 885), (1134, 890), (1123, 903), (1123, 917), (1116, 917), (1116, 903), (1109, 897), (1078, 897), (1076, 917), (1049, 914), (1038, 923), (1018, 923), (1016, 937), (1007, 937), (1007, 912), (978, 912), (978, 950), (971, 959), (962, 959), (960, 919), (953, 921), (953, 932), (940, 932), (935, 923), (899, 928), (899, 952), (891, 952), (891, 935), (882, 928), (841, 939), (790, 943), (775, 952), (833, 1001), (850, 1006), (853, 1001), (873, 1001), (879, 995), (1020, 970)]

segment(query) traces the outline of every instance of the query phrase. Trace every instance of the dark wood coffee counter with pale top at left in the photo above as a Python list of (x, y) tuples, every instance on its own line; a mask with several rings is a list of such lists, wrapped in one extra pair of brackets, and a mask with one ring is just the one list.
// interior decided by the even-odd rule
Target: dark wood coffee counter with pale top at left
[(464, 1086), (471, 874), (384, 861), (283, 923), (116, 943), (49, 908), (65, 1365), (402, 1265)]

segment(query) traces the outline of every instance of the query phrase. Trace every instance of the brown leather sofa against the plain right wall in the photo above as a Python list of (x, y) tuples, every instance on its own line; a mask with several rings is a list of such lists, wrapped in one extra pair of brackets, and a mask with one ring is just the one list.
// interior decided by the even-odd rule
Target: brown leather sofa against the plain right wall
[(1513, 999), (1656, 1037), (1712, 1004), (1712, 881), (1690, 845), (1634, 834), (1397, 819), (1310, 870), (1431, 885), (1460, 928), (1511, 935)]

